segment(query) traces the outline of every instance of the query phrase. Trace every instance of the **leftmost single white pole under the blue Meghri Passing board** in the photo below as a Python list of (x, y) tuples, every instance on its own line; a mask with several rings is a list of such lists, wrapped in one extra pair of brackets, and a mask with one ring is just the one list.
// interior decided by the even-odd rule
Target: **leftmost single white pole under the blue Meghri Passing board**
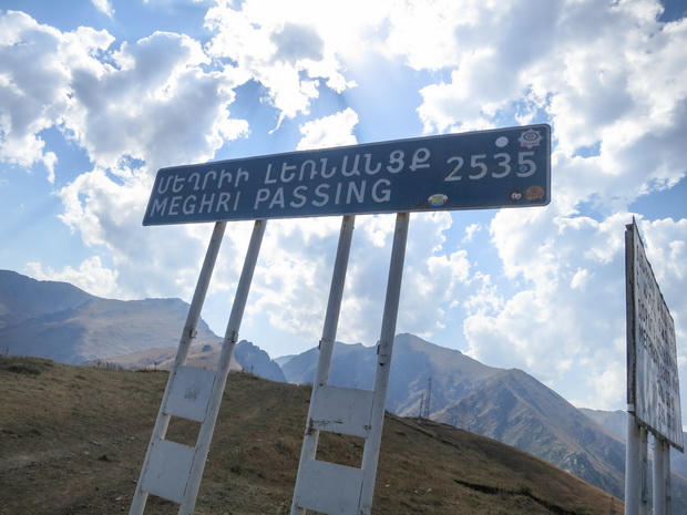
[[(167, 434), (167, 428), (170, 426), (170, 415), (164, 413), (164, 406), (167, 403), (167, 398), (170, 395), (174, 374), (180, 367), (186, 363), (191, 341), (195, 338), (196, 326), (198, 323), (198, 319), (201, 318), (203, 302), (205, 301), (205, 297), (207, 295), (207, 288), (209, 286), (209, 280), (213, 276), (213, 270), (215, 269), (215, 264), (217, 262), (217, 255), (219, 254), (219, 247), (222, 246), (222, 238), (224, 237), (225, 228), (226, 222), (217, 222), (215, 224), (215, 228), (213, 229), (213, 235), (211, 237), (209, 245), (207, 246), (205, 260), (203, 261), (203, 267), (201, 269), (201, 275), (198, 276), (196, 289), (191, 301), (191, 307), (188, 308), (188, 315), (186, 316), (186, 323), (184, 325), (182, 338), (176, 350), (176, 359), (174, 360), (172, 371), (170, 372), (170, 378), (167, 379), (167, 385), (165, 388), (163, 400), (160, 403), (160, 411), (157, 413), (157, 419), (153, 429), (153, 435), (151, 436), (151, 443), (148, 444), (148, 451), (145, 455), (145, 460), (143, 461), (142, 471), (145, 471), (147, 467), (151, 456), (152, 443), (156, 440), (164, 439)], [(134, 493), (131, 509), (129, 512), (130, 515), (141, 515), (143, 514), (143, 509), (145, 508), (147, 492), (141, 488), (142, 480), (143, 473), (139, 477), (136, 492)]]

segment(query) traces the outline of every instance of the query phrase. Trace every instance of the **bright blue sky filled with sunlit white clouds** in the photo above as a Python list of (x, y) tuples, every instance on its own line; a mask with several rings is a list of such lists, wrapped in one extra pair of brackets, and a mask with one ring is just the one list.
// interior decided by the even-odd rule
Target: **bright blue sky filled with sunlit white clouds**
[[(633, 216), (687, 370), (686, 12), (685, 0), (0, 0), (0, 268), (189, 300), (212, 224), (142, 226), (161, 167), (548, 123), (547, 207), (411, 216), (398, 332), (523, 369), (576, 405), (624, 409)], [(341, 341), (379, 338), (393, 224), (357, 219)], [(339, 228), (267, 224), (240, 338), (273, 358), (317, 344)], [(227, 228), (203, 312), (218, 334), (250, 230)]]

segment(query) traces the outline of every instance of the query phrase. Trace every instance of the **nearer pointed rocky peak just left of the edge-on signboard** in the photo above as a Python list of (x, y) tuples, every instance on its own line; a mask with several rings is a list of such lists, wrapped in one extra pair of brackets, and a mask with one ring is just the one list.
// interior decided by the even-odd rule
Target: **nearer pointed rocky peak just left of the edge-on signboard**
[(490, 378), (433, 419), (526, 450), (624, 495), (624, 443), (520, 370)]

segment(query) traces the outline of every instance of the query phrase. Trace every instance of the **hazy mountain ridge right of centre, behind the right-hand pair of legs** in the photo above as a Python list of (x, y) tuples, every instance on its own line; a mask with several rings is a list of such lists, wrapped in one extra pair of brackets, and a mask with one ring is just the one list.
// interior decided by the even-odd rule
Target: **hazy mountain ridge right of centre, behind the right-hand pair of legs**
[[(372, 388), (376, 349), (335, 346), (330, 382)], [(317, 349), (284, 364), (288, 381), (310, 383)], [(459, 351), (398, 334), (387, 409), (418, 416), (432, 378), (430, 418), (486, 435), (550, 461), (589, 483), (624, 495), (622, 439), (521, 370), (486, 367)], [(687, 480), (674, 478), (674, 505), (687, 513)]]

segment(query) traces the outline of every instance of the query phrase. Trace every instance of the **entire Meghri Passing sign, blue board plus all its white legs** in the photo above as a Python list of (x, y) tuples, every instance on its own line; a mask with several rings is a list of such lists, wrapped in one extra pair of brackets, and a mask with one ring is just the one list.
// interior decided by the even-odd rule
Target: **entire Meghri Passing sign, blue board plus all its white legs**
[[(551, 127), (530, 125), (176, 166), (157, 172), (144, 225), (215, 222), (215, 231), (163, 396), (130, 515), (148, 494), (193, 513), (238, 339), (266, 219), (344, 216), (291, 505), (328, 515), (369, 515), (379, 459), (411, 212), (545, 206), (551, 200)], [(328, 384), (357, 214), (397, 214), (373, 390)], [(256, 220), (219, 364), (186, 356), (227, 220)], [(201, 422), (195, 446), (165, 440), (171, 416)], [(316, 460), (320, 431), (365, 440), (361, 466)]]

